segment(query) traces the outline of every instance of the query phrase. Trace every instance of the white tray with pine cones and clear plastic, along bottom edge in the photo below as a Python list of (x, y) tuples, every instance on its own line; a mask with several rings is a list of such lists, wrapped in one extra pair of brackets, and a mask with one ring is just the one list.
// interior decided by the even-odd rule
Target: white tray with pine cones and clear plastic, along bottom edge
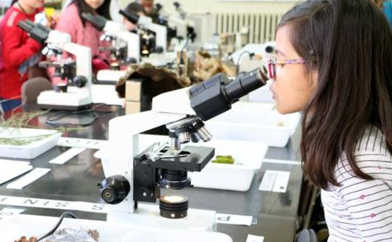
[[(40, 237), (47, 233), (57, 223), (58, 218), (36, 215), (13, 215), (0, 222), (2, 241), (18, 240), (21, 236)], [(100, 236), (99, 242), (232, 242), (223, 233), (207, 231), (174, 230), (168, 228), (142, 227), (130, 224), (116, 224), (105, 221), (65, 218), (60, 225), (62, 228), (96, 229)]]

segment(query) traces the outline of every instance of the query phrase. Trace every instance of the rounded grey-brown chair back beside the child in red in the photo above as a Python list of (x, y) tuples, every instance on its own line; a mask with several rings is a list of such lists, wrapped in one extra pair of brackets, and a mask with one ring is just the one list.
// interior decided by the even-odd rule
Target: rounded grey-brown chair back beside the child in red
[(21, 98), (26, 104), (34, 103), (42, 91), (53, 90), (52, 83), (46, 78), (35, 77), (22, 84)]

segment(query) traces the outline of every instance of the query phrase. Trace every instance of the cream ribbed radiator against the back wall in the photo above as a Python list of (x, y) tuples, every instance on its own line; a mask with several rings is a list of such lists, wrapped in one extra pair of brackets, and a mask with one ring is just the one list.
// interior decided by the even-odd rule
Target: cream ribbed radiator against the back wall
[(249, 43), (263, 44), (275, 40), (275, 29), (283, 13), (215, 13), (215, 33), (237, 33), (249, 27)]

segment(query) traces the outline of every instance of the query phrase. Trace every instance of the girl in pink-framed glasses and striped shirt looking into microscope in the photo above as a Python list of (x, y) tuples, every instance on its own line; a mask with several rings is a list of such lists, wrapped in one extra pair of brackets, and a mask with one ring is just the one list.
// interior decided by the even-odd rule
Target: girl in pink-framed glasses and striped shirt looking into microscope
[(269, 61), (276, 109), (303, 111), (301, 156), (328, 242), (392, 241), (392, 32), (368, 0), (289, 10)]

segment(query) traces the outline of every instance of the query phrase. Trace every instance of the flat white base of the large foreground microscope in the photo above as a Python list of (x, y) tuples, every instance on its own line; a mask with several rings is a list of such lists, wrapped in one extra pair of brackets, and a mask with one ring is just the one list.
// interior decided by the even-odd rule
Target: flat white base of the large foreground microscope
[(134, 213), (110, 211), (107, 214), (107, 222), (168, 229), (216, 231), (215, 215), (215, 211), (188, 209), (187, 217), (170, 219), (159, 215), (159, 206), (139, 203)]

